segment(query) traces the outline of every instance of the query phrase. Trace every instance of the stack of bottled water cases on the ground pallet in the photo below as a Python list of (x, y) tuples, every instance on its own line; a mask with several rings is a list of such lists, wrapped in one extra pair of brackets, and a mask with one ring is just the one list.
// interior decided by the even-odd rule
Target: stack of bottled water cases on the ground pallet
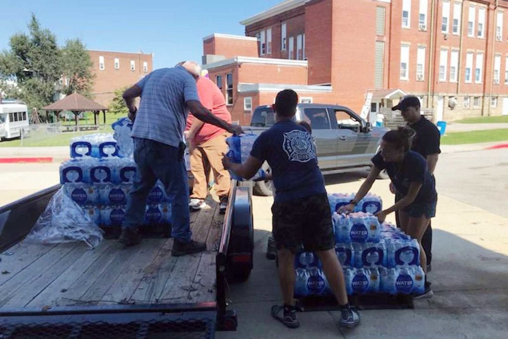
[[(335, 253), (343, 268), (347, 294), (423, 293), (425, 274), (420, 267), (418, 241), (389, 223), (379, 224), (373, 215), (382, 209), (378, 196), (368, 194), (348, 215), (336, 212), (353, 198), (353, 194), (328, 195), (330, 208), (335, 211)], [(314, 253), (298, 253), (295, 266), (297, 296), (332, 293)]]

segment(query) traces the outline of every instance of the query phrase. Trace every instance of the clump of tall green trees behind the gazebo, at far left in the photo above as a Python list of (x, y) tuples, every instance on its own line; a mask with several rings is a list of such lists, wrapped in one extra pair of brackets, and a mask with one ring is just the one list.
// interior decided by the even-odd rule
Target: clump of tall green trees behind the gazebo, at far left
[[(91, 61), (83, 44), (70, 40), (60, 48), (56, 36), (41, 27), (34, 14), (28, 34), (13, 35), (9, 47), (0, 53), (0, 90), (6, 97), (41, 108), (54, 101), (57, 91), (90, 93)], [(62, 76), (69, 79), (69, 85), (62, 83)]]

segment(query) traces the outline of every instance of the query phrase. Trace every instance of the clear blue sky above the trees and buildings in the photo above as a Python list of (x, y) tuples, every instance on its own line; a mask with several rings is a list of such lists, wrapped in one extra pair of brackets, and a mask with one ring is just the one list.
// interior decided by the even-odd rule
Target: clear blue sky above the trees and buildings
[(153, 53), (154, 68), (201, 61), (203, 37), (244, 35), (238, 22), (282, 0), (0, 0), (0, 50), (27, 32), (35, 13), (59, 44), (80, 38), (88, 49)]

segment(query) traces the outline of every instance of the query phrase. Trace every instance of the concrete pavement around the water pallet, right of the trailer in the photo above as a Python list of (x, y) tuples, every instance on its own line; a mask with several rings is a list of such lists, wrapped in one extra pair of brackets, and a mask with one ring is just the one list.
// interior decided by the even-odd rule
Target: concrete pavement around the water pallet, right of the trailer
[[(356, 192), (359, 175), (327, 177), (327, 190)], [(377, 180), (371, 192), (393, 201), (387, 180)], [(338, 328), (337, 311), (300, 313), (301, 327), (288, 329), (271, 318), (280, 303), (275, 263), (265, 258), (271, 231), (272, 198), (254, 197), (255, 265), (249, 280), (230, 286), (231, 308), (238, 313), (236, 332), (217, 338), (505, 338), (508, 333), (508, 219), (439, 196), (433, 221), (434, 297), (415, 300), (414, 310), (362, 311), (353, 330)], [(394, 215), (389, 215), (394, 222)]]

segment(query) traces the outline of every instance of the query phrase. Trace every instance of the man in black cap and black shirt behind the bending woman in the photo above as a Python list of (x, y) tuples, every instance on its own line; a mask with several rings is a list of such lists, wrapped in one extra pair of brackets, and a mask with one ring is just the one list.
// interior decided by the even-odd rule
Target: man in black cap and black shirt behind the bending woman
[[(420, 153), (427, 160), (429, 172), (434, 175), (437, 159), (441, 152), (439, 149), (440, 134), (437, 127), (420, 114), (420, 100), (415, 96), (406, 96), (392, 110), (400, 110), (407, 126), (415, 130), (416, 135), (412, 140), (411, 150)], [(392, 190), (391, 186), (390, 189)], [(400, 198), (395, 196), (396, 201)], [(396, 213), (397, 226), (400, 227), (398, 217), (399, 215)], [(422, 247), (427, 255), (427, 271), (430, 271), (432, 261), (432, 227), (430, 222), (422, 237)]]

